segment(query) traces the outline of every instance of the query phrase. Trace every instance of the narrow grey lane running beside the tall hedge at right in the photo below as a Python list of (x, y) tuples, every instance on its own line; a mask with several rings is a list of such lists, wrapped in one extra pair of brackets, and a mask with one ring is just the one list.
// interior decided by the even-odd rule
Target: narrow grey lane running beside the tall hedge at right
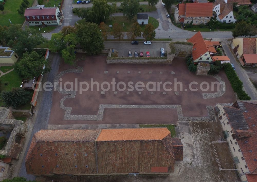
[[(222, 44), (223, 49), (226, 52), (226, 55), (230, 58), (231, 63), (233, 63), (236, 67), (235, 71), (243, 82), (243, 86), (247, 92), (247, 94), (252, 98), (252, 100), (256, 100), (256, 89), (252, 88), (251, 83), (249, 83), (249, 77), (247, 76), (245, 70), (241, 67), (240, 63), (238, 63), (233, 54), (231, 53), (230, 49), (228, 48), (227, 44)], [(248, 78), (248, 79), (247, 79)], [(251, 82), (251, 81), (250, 81)]]

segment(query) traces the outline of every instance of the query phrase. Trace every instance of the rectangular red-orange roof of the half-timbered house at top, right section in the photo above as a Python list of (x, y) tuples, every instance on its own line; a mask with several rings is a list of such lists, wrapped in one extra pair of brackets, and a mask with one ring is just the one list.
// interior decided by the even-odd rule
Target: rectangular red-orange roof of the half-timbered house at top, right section
[(186, 3), (186, 17), (212, 17), (213, 3)]

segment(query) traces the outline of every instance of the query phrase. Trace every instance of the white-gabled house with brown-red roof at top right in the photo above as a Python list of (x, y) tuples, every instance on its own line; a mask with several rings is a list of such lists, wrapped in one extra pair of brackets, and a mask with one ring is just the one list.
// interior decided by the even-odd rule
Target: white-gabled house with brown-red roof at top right
[(235, 23), (233, 15), (233, 0), (216, 0), (213, 3), (213, 11), (216, 12), (216, 20), (222, 23)]

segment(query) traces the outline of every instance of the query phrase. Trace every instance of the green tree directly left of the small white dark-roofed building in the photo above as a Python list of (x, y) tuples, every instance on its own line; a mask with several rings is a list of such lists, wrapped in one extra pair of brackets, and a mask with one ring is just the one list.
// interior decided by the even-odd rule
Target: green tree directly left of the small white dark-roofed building
[(139, 12), (139, 0), (124, 0), (121, 7), (123, 8), (123, 15), (131, 21)]

